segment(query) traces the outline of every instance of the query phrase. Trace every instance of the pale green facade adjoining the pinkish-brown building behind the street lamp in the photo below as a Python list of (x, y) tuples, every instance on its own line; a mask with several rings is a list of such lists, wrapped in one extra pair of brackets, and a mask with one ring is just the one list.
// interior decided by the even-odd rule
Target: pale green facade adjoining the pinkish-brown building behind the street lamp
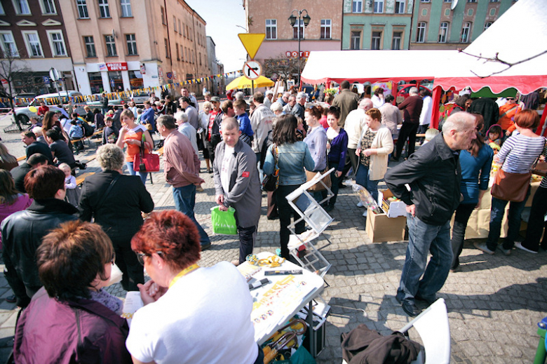
[(344, 0), (342, 49), (408, 49), (413, 6), (414, 0)]

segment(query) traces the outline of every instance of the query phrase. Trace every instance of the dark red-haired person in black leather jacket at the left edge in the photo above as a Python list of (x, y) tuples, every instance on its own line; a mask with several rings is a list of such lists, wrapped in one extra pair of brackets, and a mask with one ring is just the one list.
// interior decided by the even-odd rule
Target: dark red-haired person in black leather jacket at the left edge
[(4, 274), (17, 297), (17, 305), (26, 307), (42, 286), (36, 249), (43, 236), (67, 221), (78, 220), (76, 208), (62, 201), (65, 198), (65, 173), (53, 166), (41, 166), (25, 177), (25, 189), (34, 198), (27, 210), (6, 217), (1, 224)]

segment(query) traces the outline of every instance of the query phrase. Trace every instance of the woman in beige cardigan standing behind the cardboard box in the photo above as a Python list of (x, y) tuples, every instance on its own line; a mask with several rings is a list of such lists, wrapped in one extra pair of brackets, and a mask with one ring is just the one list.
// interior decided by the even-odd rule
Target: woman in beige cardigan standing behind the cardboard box
[[(377, 201), (377, 184), (386, 173), (388, 155), (393, 151), (393, 138), (389, 129), (381, 125), (381, 113), (378, 109), (368, 110), (365, 121), (367, 125), (363, 128), (355, 153), (359, 157), (356, 182), (365, 187), (374, 201)], [(365, 211), (363, 216), (366, 215)]]

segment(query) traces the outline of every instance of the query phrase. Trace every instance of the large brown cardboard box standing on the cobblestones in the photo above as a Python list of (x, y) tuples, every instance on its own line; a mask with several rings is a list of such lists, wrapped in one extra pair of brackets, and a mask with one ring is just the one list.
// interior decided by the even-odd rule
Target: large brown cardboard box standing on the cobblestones
[(404, 216), (391, 218), (386, 214), (374, 214), (369, 208), (365, 231), (372, 243), (403, 241), (405, 240), (406, 224), (407, 218)]

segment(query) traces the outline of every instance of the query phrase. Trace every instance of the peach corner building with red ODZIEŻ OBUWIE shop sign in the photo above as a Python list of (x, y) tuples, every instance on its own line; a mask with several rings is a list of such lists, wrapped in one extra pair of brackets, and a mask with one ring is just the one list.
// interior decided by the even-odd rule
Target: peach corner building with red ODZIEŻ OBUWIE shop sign
[(74, 0), (61, 7), (84, 95), (208, 75), (205, 21), (182, 0)]

